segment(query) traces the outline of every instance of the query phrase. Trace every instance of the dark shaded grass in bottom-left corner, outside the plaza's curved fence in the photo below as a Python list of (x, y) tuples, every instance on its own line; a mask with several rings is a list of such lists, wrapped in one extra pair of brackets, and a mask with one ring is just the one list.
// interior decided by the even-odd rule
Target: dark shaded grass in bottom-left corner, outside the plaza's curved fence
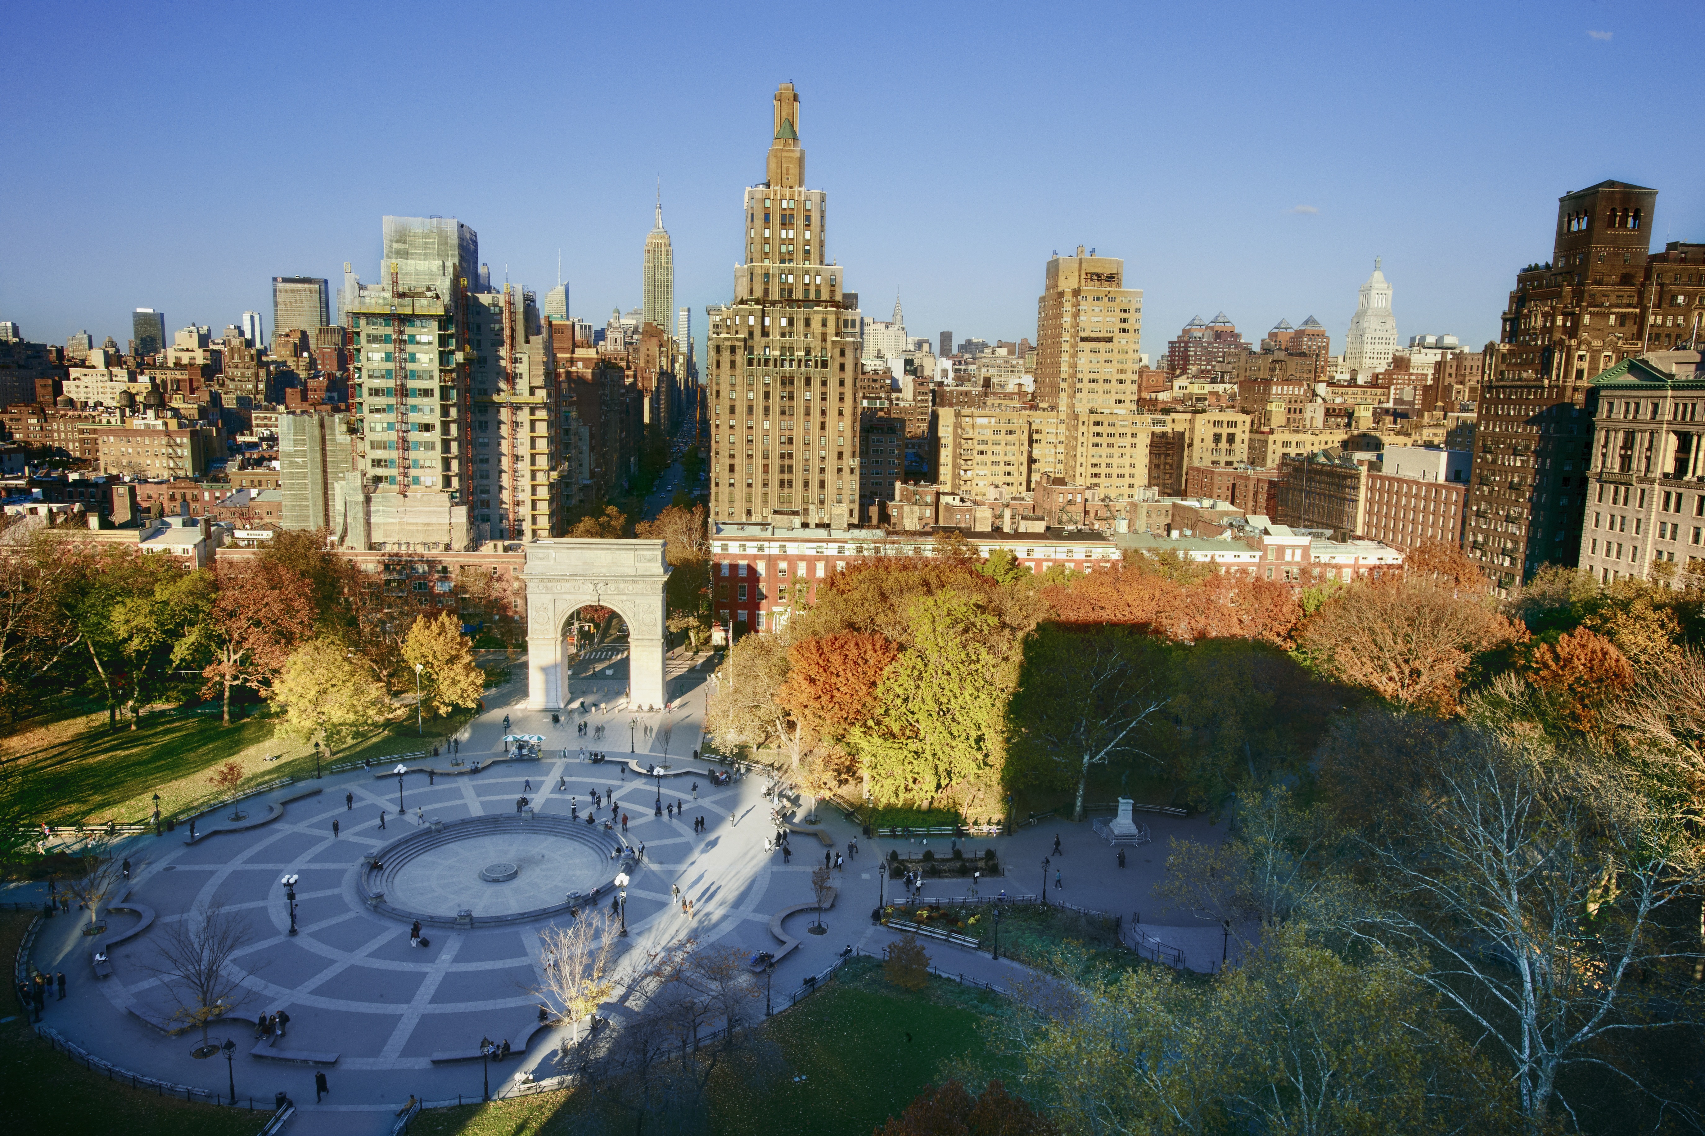
[[(0, 913), (0, 957), (17, 957), (29, 921), (27, 913)], [(97, 996), (87, 982), (84, 996)], [(15, 996), (5, 1005), (7, 1013), (14, 1013)], [(249, 1112), (189, 1104), (118, 1085), (36, 1037), (24, 1015), (0, 1025), (0, 1100), (7, 1127), (19, 1133), (121, 1129), (126, 1136), (254, 1136), (271, 1114), (271, 1109)], [(271, 1104), (271, 1095), (266, 1102)]]

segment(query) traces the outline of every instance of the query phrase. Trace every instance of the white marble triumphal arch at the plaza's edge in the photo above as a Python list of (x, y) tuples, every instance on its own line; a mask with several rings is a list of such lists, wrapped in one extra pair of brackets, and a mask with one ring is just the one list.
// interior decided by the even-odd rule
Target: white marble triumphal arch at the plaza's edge
[(525, 551), (527, 706), (561, 710), (568, 701), (568, 621), (587, 606), (609, 607), (627, 623), (629, 703), (665, 704), (663, 541), (532, 541)]

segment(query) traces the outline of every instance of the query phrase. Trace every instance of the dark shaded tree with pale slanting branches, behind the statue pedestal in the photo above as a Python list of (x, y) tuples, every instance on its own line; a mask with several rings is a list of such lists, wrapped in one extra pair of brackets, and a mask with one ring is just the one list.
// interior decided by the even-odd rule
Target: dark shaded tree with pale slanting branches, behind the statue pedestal
[(1072, 785), (1074, 820), (1083, 820), (1095, 766), (1154, 761), (1149, 727), (1171, 701), (1165, 667), (1158, 643), (1120, 628), (1081, 633), (1043, 624), (1025, 645), (1008, 706), (1013, 759)]

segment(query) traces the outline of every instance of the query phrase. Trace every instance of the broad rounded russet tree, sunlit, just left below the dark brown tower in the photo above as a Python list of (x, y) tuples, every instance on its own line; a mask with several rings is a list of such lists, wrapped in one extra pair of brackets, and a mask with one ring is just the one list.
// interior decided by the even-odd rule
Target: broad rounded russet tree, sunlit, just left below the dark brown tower
[(1352, 583), (1303, 626), (1321, 670), (1403, 706), (1449, 711), (1475, 653), (1517, 635), (1483, 597), (1424, 577)]

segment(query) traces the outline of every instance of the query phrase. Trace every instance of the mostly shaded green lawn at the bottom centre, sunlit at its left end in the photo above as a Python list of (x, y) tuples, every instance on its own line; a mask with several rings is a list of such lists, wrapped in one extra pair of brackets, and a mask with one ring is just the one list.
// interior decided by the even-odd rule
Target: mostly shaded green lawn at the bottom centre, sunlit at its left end
[[(784, 1069), (750, 1083), (725, 1066), (711, 1083), (711, 1131), (870, 1136), (941, 1076), (946, 1064), (984, 1059), (979, 1022), (1003, 998), (931, 979), (917, 993), (890, 986), (881, 965), (858, 959), (796, 1008), (759, 1027)], [(803, 1075), (803, 1081), (791, 1080)], [(762, 1121), (759, 1122), (759, 1117)], [(423, 1112), (416, 1136), (556, 1136), (587, 1129), (571, 1093)]]

